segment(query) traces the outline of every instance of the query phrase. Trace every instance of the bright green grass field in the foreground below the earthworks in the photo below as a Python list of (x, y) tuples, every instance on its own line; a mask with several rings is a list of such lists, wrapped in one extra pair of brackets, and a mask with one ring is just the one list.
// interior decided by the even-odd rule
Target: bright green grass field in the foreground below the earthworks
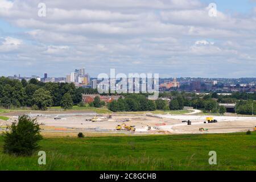
[[(3, 154), (0, 170), (256, 170), (256, 133), (44, 138), (38, 156)], [(208, 163), (217, 152), (217, 165)]]

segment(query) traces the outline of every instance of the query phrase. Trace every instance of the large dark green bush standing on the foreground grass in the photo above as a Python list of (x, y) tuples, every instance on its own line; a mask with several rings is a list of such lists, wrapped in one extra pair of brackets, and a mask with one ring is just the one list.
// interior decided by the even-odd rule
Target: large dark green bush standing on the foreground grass
[(36, 119), (22, 115), (18, 123), (9, 127), (10, 131), (4, 134), (3, 151), (7, 154), (32, 155), (39, 148), (38, 141), (43, 137), (40, 135), (40, 127)]

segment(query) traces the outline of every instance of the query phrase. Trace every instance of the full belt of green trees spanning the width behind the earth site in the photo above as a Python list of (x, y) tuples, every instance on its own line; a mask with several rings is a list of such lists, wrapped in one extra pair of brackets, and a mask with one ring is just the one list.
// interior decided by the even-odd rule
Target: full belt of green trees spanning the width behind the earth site
[[(10, 80), (0, 77), (0, 106), (10, 109), (32, 107), (34, 110), (46, 110), (49, 106), (61, 106), (64, 109), (73, 105), (83, 106), (82, 94), (97, 93), (97, 89), (76, 88), (74, 84), (40, 82), (36, 79)], [(256, 114), (256, 93), (233, 93), (221, 96), (217, 93), (197, 95), (185, 92), (164, 92), (159, 94), (159, 100), (148, 100), (148, 94), (121, 94), (118, 101), (108, 104), (112, 111), (153, 111), (181, 110), (184, 106), (194, 107), (212, 113), (225, 113), (225, 108), (219, 103), (237, 104), (238, 114)], [(169, 99), (162, 100), (162, 98)], [(90, 106), (101, 107), (105, 103), (97, 97)]]

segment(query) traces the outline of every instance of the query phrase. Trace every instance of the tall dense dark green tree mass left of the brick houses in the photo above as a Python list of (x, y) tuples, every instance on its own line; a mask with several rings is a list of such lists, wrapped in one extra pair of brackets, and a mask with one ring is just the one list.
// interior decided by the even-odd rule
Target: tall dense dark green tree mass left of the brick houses
[(46, 110), (49, 106), (68, 109), (82, 101), (83, 93), (97, 93), (97, 89), (76, 88), (73, 83), (44, 83), (34, 78), (27, 82), (0, 77), (0, 106), (7, 109), (32, 107)]

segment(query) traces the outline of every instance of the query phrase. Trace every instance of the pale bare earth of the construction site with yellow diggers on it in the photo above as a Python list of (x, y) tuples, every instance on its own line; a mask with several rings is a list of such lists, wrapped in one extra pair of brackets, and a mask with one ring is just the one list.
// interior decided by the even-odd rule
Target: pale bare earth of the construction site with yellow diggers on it
[[(255, 117), (229, 117), (211, 116), (217, 119), (217, 123), (204, 123), (206, 115), (153, 115), (145, 114), (112, 114), (112, 119), (106, 118), (108, 114), (97, 114), (97, 122), (88, 121), (96, 116), (96, 113), (84, 111), (16, 111), (6, 113), (9, 121), (0, 120), (0, 132), (6, 130), (6, 126), (15, 122), (20, 114), (30, 114), (31, 117), (38, 118), (38, 123), (42, 124), (42, 133), (49, 137), (77, 136), (82, 132), (88, 136), (104, 135), (144, 135), (144, 134), (196, 134), (196, 133), (235, 133), (249, 129), (253, 130), (256, 126)], [(55, 119), (60, 118), (60, 119)], [(192, 121), (192, 125), (182, 123), (184, 120)], [(125, 123), (135, 126), (136, 131), (116, 131), (117, 125)], [(148, 126), (151, 130), (148, 131)], [(200, 127), (208, 131), (199, 131)]]

